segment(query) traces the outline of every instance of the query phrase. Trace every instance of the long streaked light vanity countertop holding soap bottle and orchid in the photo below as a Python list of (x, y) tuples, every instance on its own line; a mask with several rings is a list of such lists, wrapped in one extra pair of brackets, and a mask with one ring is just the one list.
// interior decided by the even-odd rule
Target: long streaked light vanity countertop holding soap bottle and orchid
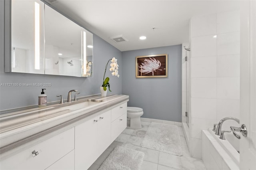
[[(50, 133), (59, 133), (72, 128), (86, 119), (127, 101), (129, 101), (127, 95), (108, 95), (106, 97), (94, 95), (71, 103), (19, 111), (17, 109), (10, 110), (10, 112), (0, 115), (0, 153), (8, 152), (32, 140), (40, 141), (42, 136), (47, 136)], [(83, 105), (85, 102), (91, 103), (86, 107), (73, 107), (80, 103)]]

